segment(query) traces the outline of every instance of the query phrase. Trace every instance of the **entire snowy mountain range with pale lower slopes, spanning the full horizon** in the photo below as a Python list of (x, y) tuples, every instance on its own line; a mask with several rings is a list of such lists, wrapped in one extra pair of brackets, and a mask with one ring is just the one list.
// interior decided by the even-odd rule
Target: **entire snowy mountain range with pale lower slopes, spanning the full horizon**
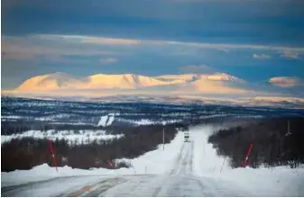
[(199, 101), (201, 98), (204, 98), (204, 101), (207, 98), (218, 98), (219, 100), (216, 101), (221, 103), (224, 99), (227, 101), (244, 97), (280, 96), (285, 98), (283, 101), (290, 101), (286, 98), (303, 97), (301, 82), (303, 81), (298, 78), (272, 77), (267, 84), (259, 84), (226, 73), (164, 76), (96, 74), (85, 77), (53, 73), (34, 76), (14, 90), (3, 90), (2, 95), (78, 101), (90, 101), (92, 98), (99, 98), (98, 101), (101, 101), (107, 96), (113, 99), (121, 95), (128, 97), (145, 95), (152, 98), (176, 98), (187, 95), (189, 98), (198, 96)]

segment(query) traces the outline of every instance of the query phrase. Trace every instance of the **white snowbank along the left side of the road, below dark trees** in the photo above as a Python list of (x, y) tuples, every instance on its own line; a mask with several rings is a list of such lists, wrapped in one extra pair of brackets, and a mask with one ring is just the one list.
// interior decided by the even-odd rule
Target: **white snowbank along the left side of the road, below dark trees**
[(120, 169), (106, 169), (106, 168), (92, 168), (91, 170), (84, 170), (78, 168), (71, 168), (69, 166), (58, 167), (56, 172), (54, 167), (47, 164), (35, 166), (31, 170), (15, 170), (13, 172), (1, 173), (2, 186), (25, 184), (28, 182), (36, 182), (55, 177), (76, 176), (76, 175), (102, 175), (102, 176), (115, 176), (115, 175), (134, 175), (134, 174), (162, 174), (169, 171), (169, 168), (175, 161), (179, 154), (181, 143), (183, 142), (183, 133), (179, 132), (175, 139), (170, 144), (162, 145), (158, 149), (152, 150), (143, 154), (141, 157), (134, 159), (119, 159), (118, 161), (125, 160), (130, 162), (132, 167)]

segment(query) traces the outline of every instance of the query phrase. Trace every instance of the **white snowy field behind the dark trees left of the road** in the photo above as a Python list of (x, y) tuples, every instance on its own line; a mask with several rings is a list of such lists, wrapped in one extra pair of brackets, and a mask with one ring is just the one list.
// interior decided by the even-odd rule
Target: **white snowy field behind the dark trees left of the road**
[(109, 139), (120, 139), (124, 134), (107, 134), (105, 130), (28, 130), (23, 133), (16, 133), (13, 135), (2, 135), (1, 144), (10, 141), (11, 139), (21, 138), (35, 138), (35, 139), (66, 139), (69, 144), (80, 144), (88, 143), (94, 140), (109, 140)]

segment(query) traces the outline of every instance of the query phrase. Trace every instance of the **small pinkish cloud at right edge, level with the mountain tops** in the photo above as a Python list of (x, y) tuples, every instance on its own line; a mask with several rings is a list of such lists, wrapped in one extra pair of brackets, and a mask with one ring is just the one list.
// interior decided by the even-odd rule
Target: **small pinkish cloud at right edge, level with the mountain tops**
[(290, 77), (290, 76), (277, 76), (272, 77), (268, 82), (272, 85), (281, 86), (281, 87), (293, 87), (304, 85), (304, 79), (299, 77)]

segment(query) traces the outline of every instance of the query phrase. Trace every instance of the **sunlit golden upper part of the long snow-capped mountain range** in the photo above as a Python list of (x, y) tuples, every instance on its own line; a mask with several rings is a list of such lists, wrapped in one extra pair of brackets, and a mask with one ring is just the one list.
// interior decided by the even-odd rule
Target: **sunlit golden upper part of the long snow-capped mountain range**
[[(160, 85), (190, 85), (193, 91), (201, 92), (208, 86), (225, 86), (225, 83), (244, 83), (243, 79), (224, 73), (214, 75), (174, 75), (140, 76), (134, 74), (106, 75), (97, 74), (87, 77), (70, 76), (64, 73), (34, 76), (26, 80), (16, 90), (60, 90), (60, 89), (135, 89)], [(201, 86), (204, 86), (203, 88)], [(177, 88), (179, 88), (177, 87)], [(172, 87), (173, 88), (173, 87)], [(174, 90), (176, 87), (174, 87)]]

